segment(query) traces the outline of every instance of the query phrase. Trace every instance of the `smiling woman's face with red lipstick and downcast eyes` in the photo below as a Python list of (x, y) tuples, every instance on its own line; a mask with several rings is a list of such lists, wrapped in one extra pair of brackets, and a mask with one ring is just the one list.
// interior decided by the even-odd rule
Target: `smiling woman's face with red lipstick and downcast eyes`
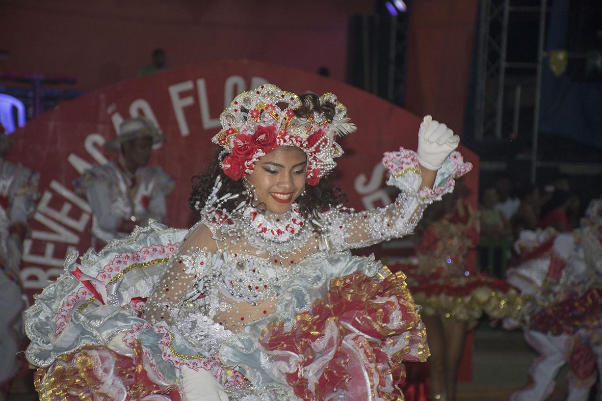
[(306, 166), (305, 152), (294, 146), (281, 146), (259, 159), (247, 177), (259, 204), (272, 213), (287, 212), (305, 187)]

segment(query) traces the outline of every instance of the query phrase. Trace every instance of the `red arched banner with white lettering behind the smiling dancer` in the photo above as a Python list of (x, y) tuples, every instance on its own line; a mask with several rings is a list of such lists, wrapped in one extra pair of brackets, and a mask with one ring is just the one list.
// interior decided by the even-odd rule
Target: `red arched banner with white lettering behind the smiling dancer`
[[(128, 79), (61, 104), (13, 134), (9, 159), (41, 176), (41, 196), (23, 252), (21, 278), (28, 294), (41, 291), (60, 274), (67, 253), (73, 249), (83, 253), (89, 246), (90, 207), (74, 193), (72, 181), (91, 164), (117, 157), (103, 145), (123, 119), (146, 116), (167, 136), (151, 164), (160, 164), (176, 180), (176, 189), (167, 198), (166, 223), (188, 227), (195, 220), (187, 206), (190, 178), (213, 157), (210, 139), (219, 131), (220, 113), (235, 95), (265, 82), (296, 93), (335, 93), (358, 126), (357, 132), (341, 140), (346, 154), (338, 159), (337, 184), (356, 209), (394, 199), (384, 184), (380, 159), (383, 152), (399, 146), (415, 149), (421, 118), (370, 93), (323, 76), (252, 61), (179, 67)], [(475, 165), (467, 184), (476, 188), (477, 157), (465, 148), (461, 151)], [(476, 201), (476, 191), (473, 198)], [(391, 249), (391, 244), (386, 247)]]

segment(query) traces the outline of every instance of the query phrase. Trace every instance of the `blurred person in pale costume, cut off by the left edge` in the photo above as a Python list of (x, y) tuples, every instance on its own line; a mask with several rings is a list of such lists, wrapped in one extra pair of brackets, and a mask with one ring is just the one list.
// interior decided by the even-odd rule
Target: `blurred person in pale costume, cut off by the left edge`
[(17, 352), (23, 350), (25, 340), (19, 268), (39, 181), (37, 173), (4, 160), (12, 146), (12, 138), (0, 124), (0, 400), (7, 397), (17, 375)]

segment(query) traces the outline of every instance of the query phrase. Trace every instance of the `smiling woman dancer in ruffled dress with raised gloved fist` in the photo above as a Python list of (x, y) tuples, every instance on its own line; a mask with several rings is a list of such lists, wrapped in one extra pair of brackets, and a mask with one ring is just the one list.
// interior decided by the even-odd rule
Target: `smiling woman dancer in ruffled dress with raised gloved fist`
[(346, 111), (332, 93), (238, 95), (193, 187), (199, 223), (71, 255), (28, 310), (42, 398), (402, 397), (402, 362), (429, 356), (424, 326), (404, 276), (349, 249), (411, 233), (471, 166), (427, 116), (418, 153), (383, 158), (396, 201), (354, 213), (325, 178), (355, 131)]

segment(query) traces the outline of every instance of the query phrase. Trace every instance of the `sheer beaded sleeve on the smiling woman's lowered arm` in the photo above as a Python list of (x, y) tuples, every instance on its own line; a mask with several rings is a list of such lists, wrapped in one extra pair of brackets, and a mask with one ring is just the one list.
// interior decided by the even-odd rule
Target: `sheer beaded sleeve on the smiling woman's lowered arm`
[(205, 277), (214, 268), (215, 248), (211, 231), (202, 223), (194, 226), (147, 299), (143, 319), (173, 325), (184, 302), (202, 292), (197, 288), (203, 287)]

